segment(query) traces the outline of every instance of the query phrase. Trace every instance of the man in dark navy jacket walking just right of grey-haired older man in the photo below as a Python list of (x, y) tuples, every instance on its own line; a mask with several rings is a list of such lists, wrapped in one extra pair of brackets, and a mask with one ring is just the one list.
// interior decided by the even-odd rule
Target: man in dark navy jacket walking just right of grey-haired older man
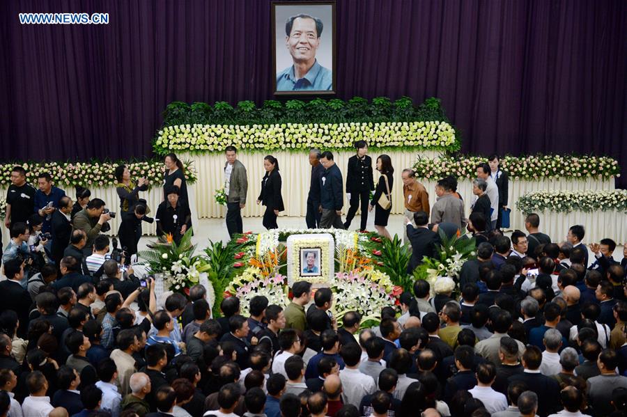
[(342, 206), (342, 173), (333, 161), (332, 152), (326, 150), (320, 157), (320, 164), (325, 172), (320, 176), (320, 228), (343, 229)]

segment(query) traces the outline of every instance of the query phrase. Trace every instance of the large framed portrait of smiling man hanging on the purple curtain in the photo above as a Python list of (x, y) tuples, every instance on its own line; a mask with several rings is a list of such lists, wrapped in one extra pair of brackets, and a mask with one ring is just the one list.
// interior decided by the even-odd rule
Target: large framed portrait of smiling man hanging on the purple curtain
[(274, 94), (335, 94), (335, 2), (272, 2)]

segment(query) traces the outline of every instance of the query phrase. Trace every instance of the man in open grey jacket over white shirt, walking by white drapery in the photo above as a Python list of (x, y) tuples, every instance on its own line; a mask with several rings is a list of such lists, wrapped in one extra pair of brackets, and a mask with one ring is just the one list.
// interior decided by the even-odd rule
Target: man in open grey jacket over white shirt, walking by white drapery
[(224, 164), (224, 191), (226, 192), (226, 228), (231, 239), (235, 233), (243, 233), (242, 208), (246, 206), (248, 178), (246, 167), (238, 161), (235, 146), (226, 147)]

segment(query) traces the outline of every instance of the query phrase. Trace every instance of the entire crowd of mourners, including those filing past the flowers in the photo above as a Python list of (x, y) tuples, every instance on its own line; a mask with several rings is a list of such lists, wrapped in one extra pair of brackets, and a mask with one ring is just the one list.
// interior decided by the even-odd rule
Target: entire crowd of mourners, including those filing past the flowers
[[(365, 228), (376, 207), (386, 235), (394, 168), (380, 155), (375, 184), (366, 143), (355, 148), (345, 221), (332, 152), (309, 153), (307, 224), (348, 228), (361, 207)], [(176, 240), (191, 215), (183, 165), (172, 154), (165, 162), (155, 217), (159, 233)], [(284, 210), (279, 164), (268, 155), (264, 166), (257, 203), (275, 228)], [(247, 195), (235, 148), (226, 149), (224, 173), (234, 234)], [(612, 239), (586, 246), (582, 226), (552, 242), (537, 214), (525, 219), (526, 233), (503, 235), (507, 177), (496, 156), (477, 166), (467, 217), (454, 178), (438, 181), (433, 207), (413, 171), (401, 178), (408, 272), (435, 253), (439, 231), (467, 228), (477, 256), (457, 283), (416, 281), (369, 327), (357, 311), (334, 317), (332, 290), (307, 281), (293, 285), (285, 307), (228, 297), (219, 317), (202, 285), (157, 300), (153, 279), (130, 265), (141, 222), (155, 220), (139, 198), (148, 181), (116, 169), (118, 247), (104, 235), (116, 214), (103, 200), (81, 188), (74, 202), (45, 173), (36, 190), (16, 166), (0, 282), (0, 417), (626, 415), (627, 249), (618, 262)]]

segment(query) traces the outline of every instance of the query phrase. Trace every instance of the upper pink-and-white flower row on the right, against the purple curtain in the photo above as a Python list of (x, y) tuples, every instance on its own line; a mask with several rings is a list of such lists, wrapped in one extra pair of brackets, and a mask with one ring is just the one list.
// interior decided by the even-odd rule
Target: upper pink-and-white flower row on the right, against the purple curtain
[[(414, 165), (418, 178), (440, 179), (449, 175), (455, 178), (475, 178), (477, 165), (488, 162), (486, 157), (464, 156), (419, 158)], [(500, 166), (510, 178), (540, 180), (544, 178), (612, 178), (619, 177), (621, 168), (610, 157), (576, 155), (531, 155), (500, 159)]]

